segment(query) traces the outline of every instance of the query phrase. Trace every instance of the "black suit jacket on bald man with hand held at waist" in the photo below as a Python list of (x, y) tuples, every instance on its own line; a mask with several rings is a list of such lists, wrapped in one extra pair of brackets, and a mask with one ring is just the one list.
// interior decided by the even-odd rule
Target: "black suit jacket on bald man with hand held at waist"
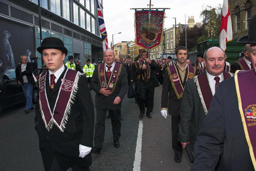
[[(125, 93), (128, 89), (128, 80), (127, 80), (126, 68), (124, 66), (122, 66), (121, 73), (120, 73), (120, 75), (118, 77), (118, 80), (117, 80), (117, 83), (116, 83), (116, 88), (115, 88), (113, 94), (111, 94), (107, 97), (107, 96), (99, 93), (99, 91), (101, 89), (101, 85), (100, 85), (101, 83), (100, 83), (100, 80), (99, 80), (98, 67), (99, 67), (99, 65), (97, 65), (95, 67), (95, 70), (93, 72), (93, 77), (91, 78), (91, 81), (90, 81), (90, 88), (92, 88), (93, 91), (96, 92), (96, 95), (95, 95), (95, 105), (96, 106), (95, 106), (95, 108), (109, 109), (109, 110), (121, 109), (122, 101), (118, 105), (114, 105), (113, 102), (114, 102), (114, 100), (117, 96), (119, 96), (121, 98), (121, 100), (123, 100), (123, 98), (125, 97)], [(106, 77), (106, 79), (107, 79), (107, 77)], [(108, 81), (109, 80), (107, 79), (107, 82)], [(107, 85), (108, 85), (108, 83), (107, 83)]]

